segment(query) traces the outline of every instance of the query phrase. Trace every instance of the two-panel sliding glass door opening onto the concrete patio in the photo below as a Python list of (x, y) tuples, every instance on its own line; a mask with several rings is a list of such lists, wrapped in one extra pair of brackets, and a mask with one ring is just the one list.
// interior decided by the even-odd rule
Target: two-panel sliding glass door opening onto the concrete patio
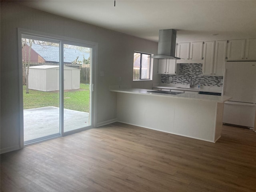
[(24, 145), (92, 126), (92, 48), (21, 35)]

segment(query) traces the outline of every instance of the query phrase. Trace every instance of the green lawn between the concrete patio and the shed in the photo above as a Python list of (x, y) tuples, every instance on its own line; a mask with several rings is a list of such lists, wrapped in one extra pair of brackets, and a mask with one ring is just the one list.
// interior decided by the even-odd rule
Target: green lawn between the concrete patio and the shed
[[(80, 84), (81, 90), (64, 92), (64, 108), (82, 112), (90, 111), (90, 91), (89, 84)], [(60, 106), (60, 96), (58, 92), (45, 92), (29, 90), (26, 94), (26, 86), (23, 86), (23, 106), (24, 109), (33, 109), (47, 106)]]

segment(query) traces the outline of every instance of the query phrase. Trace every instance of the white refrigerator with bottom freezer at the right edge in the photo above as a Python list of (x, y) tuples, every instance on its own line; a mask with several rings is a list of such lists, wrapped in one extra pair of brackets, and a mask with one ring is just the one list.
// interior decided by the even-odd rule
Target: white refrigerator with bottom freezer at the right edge
[(256, 131), (256, 61), (227, 61), (222, 95), (232, 97), (224, 103), (223, 123)]

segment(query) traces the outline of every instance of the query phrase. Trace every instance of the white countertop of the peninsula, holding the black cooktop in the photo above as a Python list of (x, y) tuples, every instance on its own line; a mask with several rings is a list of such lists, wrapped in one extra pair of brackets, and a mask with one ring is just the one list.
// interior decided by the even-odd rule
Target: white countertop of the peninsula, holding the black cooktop
[(216, 95), (204, 95), (204, 94), (193, 94), (193, 93), (181, 93), (181, 94), (164, 94), (164, 93), (152, 93), (148, 91), (154, 91), (150, 89), (137, 89), (137, 88), (118, 88), (116, 86), (111, 86), (110, 91), (121, 92), (121, 93), (131, 93), (131, 94), (142, 94), (142, 95), (152, 95), (160, 97), (169, 98), (179, 98), (179, 99), (191, 99), (191, 100), (201, 100), (208, 102), (218, 102), (223, 103), (231, 99), (229, 96), (216, 96)]

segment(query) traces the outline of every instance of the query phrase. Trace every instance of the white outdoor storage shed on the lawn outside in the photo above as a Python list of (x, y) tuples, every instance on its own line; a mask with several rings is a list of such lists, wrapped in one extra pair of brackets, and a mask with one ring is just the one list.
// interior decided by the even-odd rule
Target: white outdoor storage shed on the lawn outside
[[(28, 88), (40, 91), (56, 91), (59, 88), (59, 66), (40, 65), (29, 68)], [(64, 90), (80, 88), (80, 69), (64, 66)]]

